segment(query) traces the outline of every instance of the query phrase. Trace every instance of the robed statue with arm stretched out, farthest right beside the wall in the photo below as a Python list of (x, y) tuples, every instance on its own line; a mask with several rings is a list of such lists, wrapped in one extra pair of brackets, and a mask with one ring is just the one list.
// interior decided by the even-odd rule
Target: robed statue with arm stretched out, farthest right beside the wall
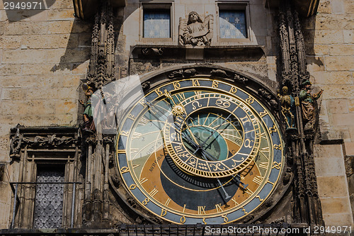
[(317, 94), (311, 94), (312, 83), (309, 80), (302, 82), (302, 90), (299, 94), (299, 99), (302, 105), (302, 120), (304, 121), (304, 130), (311, 130), (314, 128), (314, 101), (319, 99), (323, 90)]

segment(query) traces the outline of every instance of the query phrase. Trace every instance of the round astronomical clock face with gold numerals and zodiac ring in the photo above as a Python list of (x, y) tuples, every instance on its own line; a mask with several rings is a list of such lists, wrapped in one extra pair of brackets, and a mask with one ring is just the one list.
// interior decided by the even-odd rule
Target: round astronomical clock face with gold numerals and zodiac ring
[(275, 118), (251, 94), (217, 79), (149, 91), (118, 130), (117, 163), (130, 194), (178, 224), (231, 223), (260, 207), (284, 166)]

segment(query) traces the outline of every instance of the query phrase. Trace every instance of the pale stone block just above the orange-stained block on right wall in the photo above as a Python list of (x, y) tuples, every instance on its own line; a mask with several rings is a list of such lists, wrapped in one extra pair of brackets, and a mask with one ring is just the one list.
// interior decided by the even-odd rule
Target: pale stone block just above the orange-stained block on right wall
[(314, 158), (316, 176), (346, 175), (344, 161), (340, 158)]

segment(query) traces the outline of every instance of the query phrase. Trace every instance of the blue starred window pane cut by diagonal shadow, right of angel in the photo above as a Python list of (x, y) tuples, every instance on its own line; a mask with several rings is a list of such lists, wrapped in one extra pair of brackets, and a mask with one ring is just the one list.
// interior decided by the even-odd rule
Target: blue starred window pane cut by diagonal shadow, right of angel
[(248, 38), (244, 10), (219, 10), (220, 38)]

